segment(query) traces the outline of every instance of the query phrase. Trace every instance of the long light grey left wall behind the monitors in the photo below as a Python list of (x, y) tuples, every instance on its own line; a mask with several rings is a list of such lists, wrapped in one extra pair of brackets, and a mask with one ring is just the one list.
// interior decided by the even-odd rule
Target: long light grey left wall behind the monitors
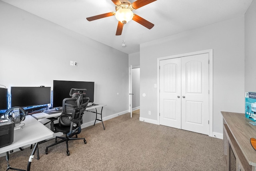
[[(0, 23), (0, 84), (8, 91), (52, 87), (53, 80), (95, 82), (94, 101), (107, 104), (103, 117), (128, 111), (128, 54), (2, 1)], [(88, 113), (84, 123), (94, 119)]]

